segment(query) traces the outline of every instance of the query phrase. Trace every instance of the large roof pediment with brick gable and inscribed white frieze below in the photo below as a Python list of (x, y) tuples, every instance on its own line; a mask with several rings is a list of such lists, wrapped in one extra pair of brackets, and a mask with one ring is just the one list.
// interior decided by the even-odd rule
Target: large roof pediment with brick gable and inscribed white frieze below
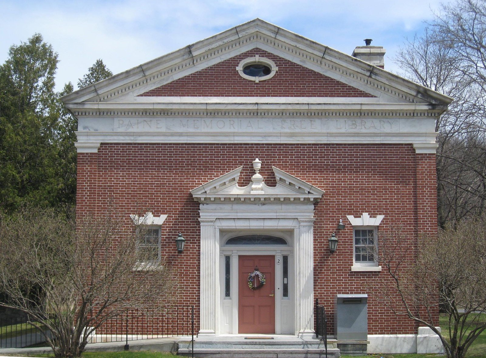
[[(260, 60), (271, 65), (261, 81), (243, 66)], [(452, 99), (255, 19), (63, 101), (78, 119), (79, 152), (112, 142), (261, 142), (411, 143), (434, 153), (435, 120)]]

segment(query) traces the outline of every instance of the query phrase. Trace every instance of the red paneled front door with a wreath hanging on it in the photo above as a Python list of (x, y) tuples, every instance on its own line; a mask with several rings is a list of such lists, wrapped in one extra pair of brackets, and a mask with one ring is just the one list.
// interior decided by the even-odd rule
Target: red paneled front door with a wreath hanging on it
[[(266, 283), (251, 290), (248, 274), (256, 266)], [(238, 333), (275, 333), (275, 256), (239, 256), (238, 267)]]

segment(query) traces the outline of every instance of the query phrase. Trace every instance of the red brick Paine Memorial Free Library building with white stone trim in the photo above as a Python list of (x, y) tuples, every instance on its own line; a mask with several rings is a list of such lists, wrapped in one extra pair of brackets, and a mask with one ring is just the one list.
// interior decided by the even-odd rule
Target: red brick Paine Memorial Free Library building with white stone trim
[(383, 70), (381, 47), (353, 55), (256, 19), (64, 98), (78, 212), (113, 203), (130, 227), (150, 208), (142, 246), (183, 277), (200, 335), (312, 335), (315, 299), (332, 317), (336, 295), (367, 295), (368, 353), (434, 349), (369, 292), (388, 280), (371, 252), (395, 226), (412, 246), (437, 230), (451, 99)]

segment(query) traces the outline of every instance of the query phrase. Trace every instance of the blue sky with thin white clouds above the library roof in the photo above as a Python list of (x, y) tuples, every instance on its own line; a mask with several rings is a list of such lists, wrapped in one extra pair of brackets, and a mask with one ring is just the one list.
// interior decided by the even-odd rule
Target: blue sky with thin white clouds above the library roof
[(351, 54), (364, 38), (386, 51), (385, 69), (404, 37), (447, 0), (0, 0), (0, 62), (12, 44), (35, 33), (59, 54), (56, 88), (98, 58), (113, 73), (209, 37), (255, 17)]

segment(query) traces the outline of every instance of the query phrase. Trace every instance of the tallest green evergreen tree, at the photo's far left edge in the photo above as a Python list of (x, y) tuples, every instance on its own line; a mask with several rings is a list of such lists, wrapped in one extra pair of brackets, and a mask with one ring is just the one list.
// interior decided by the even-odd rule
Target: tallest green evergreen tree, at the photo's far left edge
[(0, 207), (58, 204), (57, 53), (35, 34), (0, 67)]

